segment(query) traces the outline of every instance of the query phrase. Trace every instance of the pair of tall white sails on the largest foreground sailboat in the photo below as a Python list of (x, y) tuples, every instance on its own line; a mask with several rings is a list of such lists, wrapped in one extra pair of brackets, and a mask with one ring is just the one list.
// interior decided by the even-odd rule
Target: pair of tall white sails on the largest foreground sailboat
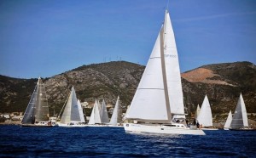
[(172, 114), (184, 116), (184, 105), (175, 37), (166, 10), (164, 25), (125, 117), (137, 121), (170, 123)]

